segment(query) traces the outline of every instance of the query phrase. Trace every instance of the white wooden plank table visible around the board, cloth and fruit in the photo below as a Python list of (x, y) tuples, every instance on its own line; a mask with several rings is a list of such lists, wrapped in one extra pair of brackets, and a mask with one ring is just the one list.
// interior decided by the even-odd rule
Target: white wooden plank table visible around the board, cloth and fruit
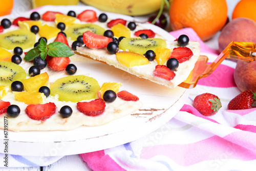
[[(8, 0), (7, 0), (8, 1)], [(240, 0), (226, 0), (228, 4), (228, 16), (231, 18), (233, 8), (236, 6), (236, 4)], [(24, 5), (25, 4), (25, 5)], [(79, 5), (84, 5), (82, 3), (79, 3)], [(14, 8), (12, 11), (12, 14), (14, 16), (19, 16), (20, 13), (28, 11), (32, 9), (31, 0), (14, 0)], [(148, 16), (139, 16), (139, 19), (146, 20)], [(169, 31), (169, 28), (166, 29)], [(209, 47), (218, 49), (218, 36), (219, 34), (216, 34), (214, 38), (211, 40), (208, 40), (205, 42)], [(58, 160), (57, 162), (43, 167), (18, 167), (18, 168), (0, 168), (0, 170), (3, 171), (14, 171), (14, 170), (24, 170), (24, 171), (52, 171), (52, 170), (91, 170), (87, 163), (84, 162), (79, 155), (71, 155), (71, 156), (65, 156)]]

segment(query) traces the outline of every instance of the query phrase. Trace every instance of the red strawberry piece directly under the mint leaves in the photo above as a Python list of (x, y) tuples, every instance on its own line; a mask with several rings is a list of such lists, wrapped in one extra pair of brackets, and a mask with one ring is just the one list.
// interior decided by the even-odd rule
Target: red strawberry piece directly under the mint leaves
[(52, 57), (49, 56), (47, 59), (47, 65), (55, 71), (65, 70), (69, 65), (70, 59), (69, 57)]

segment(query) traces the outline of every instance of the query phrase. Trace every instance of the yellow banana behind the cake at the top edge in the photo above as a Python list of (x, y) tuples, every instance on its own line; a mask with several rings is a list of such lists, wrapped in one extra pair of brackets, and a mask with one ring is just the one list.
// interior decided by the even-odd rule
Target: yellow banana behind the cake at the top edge
[(160, 9), (162, 0), (80, 0), (102, 11), (124, 15), (145, 15)]

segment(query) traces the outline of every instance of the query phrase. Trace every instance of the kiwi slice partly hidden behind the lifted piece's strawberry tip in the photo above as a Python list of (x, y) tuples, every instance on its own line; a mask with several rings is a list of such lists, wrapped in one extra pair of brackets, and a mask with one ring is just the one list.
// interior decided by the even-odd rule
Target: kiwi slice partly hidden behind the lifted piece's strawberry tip
[(91, 31), (95, 34), (102, 35), (105, 29), (96, 24), (77, 24), (70, 26), (65, 33), (71, 40), (76, 40), (78, 36), (82, 35), (86, 31)]

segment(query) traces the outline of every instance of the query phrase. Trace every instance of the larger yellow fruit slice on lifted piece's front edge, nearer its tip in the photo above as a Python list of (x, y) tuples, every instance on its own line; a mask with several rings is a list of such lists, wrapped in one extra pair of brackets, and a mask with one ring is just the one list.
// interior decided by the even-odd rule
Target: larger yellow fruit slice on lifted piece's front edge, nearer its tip
[(126, 67), (142, 66), (150, 64), (145, 56), (142, 56), (134, 52), (117, 52), (116, 58), (119, 63), (125, 65)]

